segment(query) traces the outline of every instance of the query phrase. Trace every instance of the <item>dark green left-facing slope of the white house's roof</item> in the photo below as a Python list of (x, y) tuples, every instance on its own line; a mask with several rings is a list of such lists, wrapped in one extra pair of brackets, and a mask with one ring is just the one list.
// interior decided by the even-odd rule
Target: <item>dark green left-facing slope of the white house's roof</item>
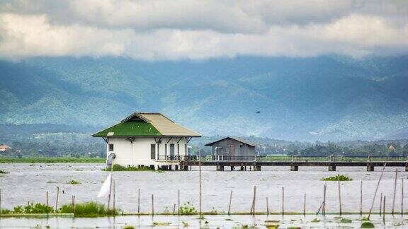
[(162, 134), (151, 123), (140, 120), (120, 122), (92, 136), (162, 136)]

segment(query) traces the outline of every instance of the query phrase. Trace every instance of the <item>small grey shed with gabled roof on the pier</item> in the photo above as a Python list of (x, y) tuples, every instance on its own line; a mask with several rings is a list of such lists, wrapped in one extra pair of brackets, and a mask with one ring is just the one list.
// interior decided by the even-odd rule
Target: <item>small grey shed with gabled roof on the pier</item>
[(226, 137), (207, 143), (205, 146), (212, 147), (212, 156), (215, 160), (254, 160), (257, 144), (243, 139)]

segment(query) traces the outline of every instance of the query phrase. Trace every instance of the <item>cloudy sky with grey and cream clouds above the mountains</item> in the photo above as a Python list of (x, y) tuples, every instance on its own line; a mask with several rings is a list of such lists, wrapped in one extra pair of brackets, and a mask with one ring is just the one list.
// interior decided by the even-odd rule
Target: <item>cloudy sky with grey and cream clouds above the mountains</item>
[(408, 1), (0, 1), (0, 58), (408, 52)]

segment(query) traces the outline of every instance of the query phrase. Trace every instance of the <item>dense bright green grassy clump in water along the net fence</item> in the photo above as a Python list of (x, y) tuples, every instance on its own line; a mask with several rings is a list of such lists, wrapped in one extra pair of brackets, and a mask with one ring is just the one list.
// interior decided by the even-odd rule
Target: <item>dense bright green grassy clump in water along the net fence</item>
[(105, 204), (91, 201), (76, 204), (75, 209), (72, 208), (72, 204), (64, 204), (60, 208), (60, 213), (74, 213), (75, 217), (98, 217), (118, 215), (118, 210), (107, 209)]

